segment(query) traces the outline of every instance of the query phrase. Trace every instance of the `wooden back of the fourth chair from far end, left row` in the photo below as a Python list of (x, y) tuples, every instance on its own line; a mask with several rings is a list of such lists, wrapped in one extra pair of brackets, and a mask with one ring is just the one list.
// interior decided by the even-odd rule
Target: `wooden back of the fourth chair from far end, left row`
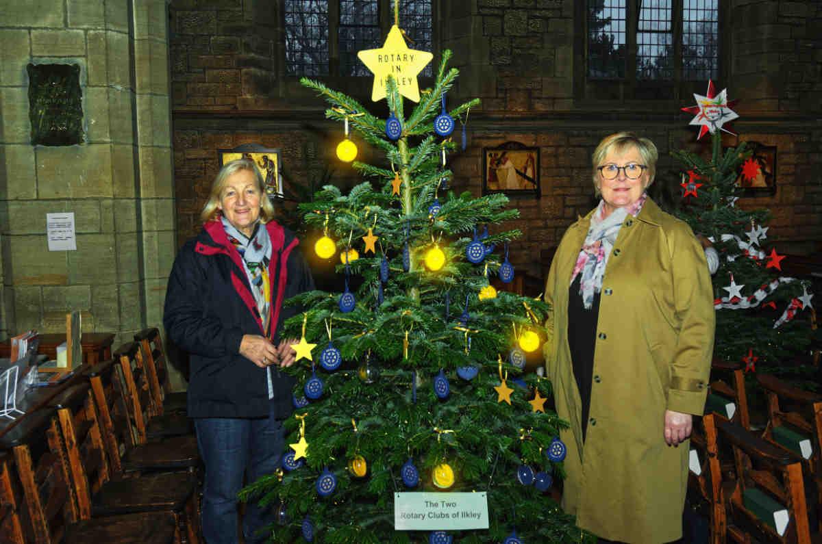
[(91, 497), (111, 478), (90, 384), (69, 388), (54, 400), (53, 406), (57, 408), (80, 518), (90, 519)]

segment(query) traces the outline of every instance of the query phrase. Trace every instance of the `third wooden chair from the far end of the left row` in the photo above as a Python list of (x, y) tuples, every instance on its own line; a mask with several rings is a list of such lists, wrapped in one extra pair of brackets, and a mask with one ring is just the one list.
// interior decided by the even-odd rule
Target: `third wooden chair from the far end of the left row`
[(159, 442), (138, 443), (132, 433), (126, 389), (116, 370), (119, 362), (102, 362), (86, 375), (95, 399), (103, 442), (114, 473), (187, 470), (199, 464), (196, 437), (173, 436)]

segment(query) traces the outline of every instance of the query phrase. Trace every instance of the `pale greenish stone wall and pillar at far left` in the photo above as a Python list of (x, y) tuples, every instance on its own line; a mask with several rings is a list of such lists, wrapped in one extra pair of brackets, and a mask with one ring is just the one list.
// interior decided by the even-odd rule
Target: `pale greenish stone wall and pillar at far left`
[[(132, 8), (133, 6), (133, 8)], [(83, 328), (117, 341), (161, 323), (175, 254), (163, 0), (0, 7), (2, 331)], [(81, 68), (84, 141), (31, 145), (29, 63)], [(48, 251), (46, 213), (73, 211), (77, 251)]]

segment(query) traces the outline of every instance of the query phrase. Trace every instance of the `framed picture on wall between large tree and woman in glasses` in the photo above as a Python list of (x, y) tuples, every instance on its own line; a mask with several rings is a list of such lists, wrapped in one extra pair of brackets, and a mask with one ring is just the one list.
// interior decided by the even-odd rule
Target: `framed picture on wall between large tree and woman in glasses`
[(483, 148), (483, 194), (539, 198), (539, 148), (518, 141)]

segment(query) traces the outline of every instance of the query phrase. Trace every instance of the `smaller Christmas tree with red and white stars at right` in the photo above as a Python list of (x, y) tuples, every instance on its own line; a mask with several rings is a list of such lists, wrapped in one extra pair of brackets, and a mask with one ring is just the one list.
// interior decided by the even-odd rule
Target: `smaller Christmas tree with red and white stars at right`
[(746, 371), (810, 376), (812, 367), (791, 364), (810, 344), (810, 325), (795, 320), (811, 306), (810, 284), (781, 274), (785, 257), (767, 242), (768, 210), (737, 206), (744, 191), (737, 177), (750, 181), (760, 174), (760, 164), (744, 142), (723, 149), (723, 124), (737, 118), (726, 91), (717, 94), (709, 82), (706, 95), (695, 98), (696, 106), (682, 109), (695, 114), (690, 124), (701, 126), (698, 138), (711, 133), (711, 156), (674, 152), (686, 169), (678, 215), (704, 246), (713, 247), (706, 254), (717, 310), (714, 355), (742, 362)]

